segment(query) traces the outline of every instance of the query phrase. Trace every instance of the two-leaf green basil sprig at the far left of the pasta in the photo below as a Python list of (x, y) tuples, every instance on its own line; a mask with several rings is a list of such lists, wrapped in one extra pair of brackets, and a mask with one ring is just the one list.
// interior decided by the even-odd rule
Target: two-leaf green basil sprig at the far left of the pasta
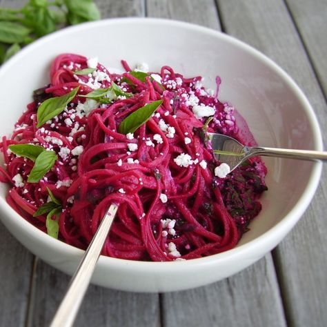
[(29, 183), (40, 181), (58, 159), (56, 152), (46, 150), (42, 146), (34, 146), (34, 144), (13, 144), (9, 148), (16, 155), (34, 161), (34, 166), (28, 175)]

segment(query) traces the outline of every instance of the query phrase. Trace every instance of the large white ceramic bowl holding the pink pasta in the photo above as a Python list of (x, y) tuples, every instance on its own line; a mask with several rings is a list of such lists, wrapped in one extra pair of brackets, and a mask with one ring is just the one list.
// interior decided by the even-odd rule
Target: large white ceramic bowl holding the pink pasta
[[(32, 90), (49, 81), (49, 66), (62, 52), (99, 57), (105, 66), (170, 65), (186, 76), (201, 75), (219, 98), (237, 107), (262, 146), (322, 149), (317, 119), (292, 79), (257, 50), (226, 34), (177, 21), (109, 19), (55, 32), (32, 43), (0, 70), (1, 135), (10, 135)], [(263, 210), (238, 246), (202, 259), (140, 262), (100, 257), (92, 282), (137, 292), (166, 292), (203, 286), (239, 272), (263, 257), (290, 231), (312, 199), (321, 164), (265, 159), (268, 192)], [(300, 178), (299, 178), (300, 177)], [(0, 185), (1, 220), (12, 235), (48, 264), (72, 274), (83, 252), (49, 237), (17, 215)]]

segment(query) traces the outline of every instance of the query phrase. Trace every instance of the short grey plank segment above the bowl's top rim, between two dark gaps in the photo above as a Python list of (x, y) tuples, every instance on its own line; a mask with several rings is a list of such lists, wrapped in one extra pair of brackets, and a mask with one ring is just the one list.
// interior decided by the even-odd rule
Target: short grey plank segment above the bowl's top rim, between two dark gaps
[(214, 0), (146, 0), (146, 14), (219, 29)]

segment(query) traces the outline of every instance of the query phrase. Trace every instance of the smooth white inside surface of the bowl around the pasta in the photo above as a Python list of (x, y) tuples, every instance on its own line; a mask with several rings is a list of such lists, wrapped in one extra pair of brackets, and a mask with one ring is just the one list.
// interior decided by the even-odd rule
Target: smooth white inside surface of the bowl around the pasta
[[(127, 35), (126, 39), (124, 36)], [(215, 88), (215, 77), (218, 75), (222, 80), (219, 99), (230, 102), (239, 110), (260, 145), (321, 148), (319, 127), (310, 105), (293, 81), (275, 64), (224, 34), (185, 23), (155, 19), (115, 19), (69, 28), (43, 38), (17, 54), (0, 71), (0, 80), (6, 81), (1, 83), (0, 88), (1, 135), (11, 134), (15, 121), (32, 99), (32, 90), (48, 83), (50, 63), (62, 52), (99, 57), (99, 61), (108, 67), (121, 68), (121, 59), (126, 59), (132, 67), (136, 63), (146, 62), (153, 71), (169, 65), (188, 77), (201, 75), (205, 78), (204, 84), (210, 88)], [(272, 158), (264, 161), (269, 170), (266, 179), (269, 190), (262, 198), (264, 208), (250, 225), (250, 232), (241, 239), (239, 248), (271, 230), (295, 206), (303, 205), (299, 199), (304, 192), (307, 192), (308, 198), (312, 197), (313, 184), (316, 185), (319, 179), (319, 168), (307, 161)], [(313, 186), (310, 192), (309, 184)], [(1, 207), (6, 206), (6, 192), (6, 186), (0, 184)], [(307, 203), (304, 201), (304, 206)], [(2, 219), (22, 219), (13, 211), (10, 216)], [(299, 217), (292, 219), (295, 224)], [(48, 239), (40, 239), (39, 233), (34, 237), (36, 235), (40, 243)], [(54, 244), (52, 241), (50, 243), (51, 246)], [(74, 252), (69, 248), (66, 246), (66, 255), (61, 254), (56, 259), (61, 262), (61, 266), (57, 266), (63, 270), (63, 263), (72, 259), (70, 257)], [(219, 255), (214, 257), (216, 261), (219, 259)], [(74, 265), (77, 259), (73, 259), (76, 261)], [(53, 259), (48, 261), (56, 266)], [(106, 262), (103, 261), (103, 265), (106, 266)]]

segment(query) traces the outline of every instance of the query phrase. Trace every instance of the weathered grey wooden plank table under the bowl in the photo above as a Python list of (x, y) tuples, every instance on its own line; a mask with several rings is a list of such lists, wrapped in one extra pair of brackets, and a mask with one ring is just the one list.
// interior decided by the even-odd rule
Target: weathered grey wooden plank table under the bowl
[[(24, 2), (0, 0), (0, 6)], [(103, 18), (189, 21), (261, 50), (304, 90), (326, 143), (327, 0), (96, 2)], [(75, 326), (327, 326), (326, 168), (299, 224), (257, 264), (216, 284), (177, 293), (90, 286)], [(0, 326), (47, 326), (70, 277), (34, 257), (2, 225), (0, 239)]]

